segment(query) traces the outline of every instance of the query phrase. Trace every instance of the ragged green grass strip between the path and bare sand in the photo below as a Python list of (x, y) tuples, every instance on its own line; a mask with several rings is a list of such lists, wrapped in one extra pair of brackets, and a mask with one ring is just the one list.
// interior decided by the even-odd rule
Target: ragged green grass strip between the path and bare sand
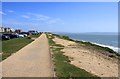
[(64, 46), (55, 44), (52, 38), (49, 38), (49, 44), (53, 53), (54, 71), (59, 79), (68, 79), (70, 77), (72, 79), (100, 79), (84, 69), (70, 64), (70, 58), (63, 55), (64, 52), (61, 51)]

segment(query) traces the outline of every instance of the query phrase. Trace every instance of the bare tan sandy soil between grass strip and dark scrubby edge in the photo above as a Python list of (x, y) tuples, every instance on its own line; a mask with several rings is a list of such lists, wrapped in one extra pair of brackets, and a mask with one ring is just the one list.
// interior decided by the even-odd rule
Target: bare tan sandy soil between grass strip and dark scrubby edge
[(91, 51), (85, 47), (78, 46), (77, 43), (55, 37), (57, 44), (64, 45), (62, 50), (68, 56), (71, 64), (85, 69), (100, 77), (118, 77), (117, 59), (109, 58), (98, 51)]

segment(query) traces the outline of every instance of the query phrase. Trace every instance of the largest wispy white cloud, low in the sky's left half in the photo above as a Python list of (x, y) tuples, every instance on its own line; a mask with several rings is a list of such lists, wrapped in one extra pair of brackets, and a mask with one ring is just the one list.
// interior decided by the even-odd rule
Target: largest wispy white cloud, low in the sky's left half
[(16, 26), (33, 26), (33, 27), (39, 27), (39, 26), (47, 26), (50, 24), (62, 24), (62, 20), (60, 18), (53, 18), (42, 14), (33, 14), (33, 13), (26, 13), (23, 15), (20, 15), (20, 17), (27, 19), (27, 22), (25, 21), (17, 21), (17, 20), (8, 20), (4, 21), (4, 25), (16, 25)]

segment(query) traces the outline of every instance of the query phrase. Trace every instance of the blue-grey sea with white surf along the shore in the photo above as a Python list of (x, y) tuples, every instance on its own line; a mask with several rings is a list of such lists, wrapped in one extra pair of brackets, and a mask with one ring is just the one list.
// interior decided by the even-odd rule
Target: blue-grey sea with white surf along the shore
[(71, 39), (84, 41), (84, 42), (91, 42), (93, 44), (108, 47), (117, 53), (120, 53), (118, 42), (118, 33), (106, 33), (106, 32), (94, 32), (94, 33), (57, 33), (59, 35), (69, 36)]

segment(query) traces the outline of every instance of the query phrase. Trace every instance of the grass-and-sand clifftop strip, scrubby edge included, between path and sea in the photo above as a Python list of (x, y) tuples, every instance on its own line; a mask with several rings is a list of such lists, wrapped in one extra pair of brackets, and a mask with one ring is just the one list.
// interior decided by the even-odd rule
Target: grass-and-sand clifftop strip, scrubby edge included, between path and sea
[(90, 42), (73, 40), (68, 36), (51, 33), (47, 35), (57, 76), (118, 77), (118, 59), (120, 55), (112, 49)]

